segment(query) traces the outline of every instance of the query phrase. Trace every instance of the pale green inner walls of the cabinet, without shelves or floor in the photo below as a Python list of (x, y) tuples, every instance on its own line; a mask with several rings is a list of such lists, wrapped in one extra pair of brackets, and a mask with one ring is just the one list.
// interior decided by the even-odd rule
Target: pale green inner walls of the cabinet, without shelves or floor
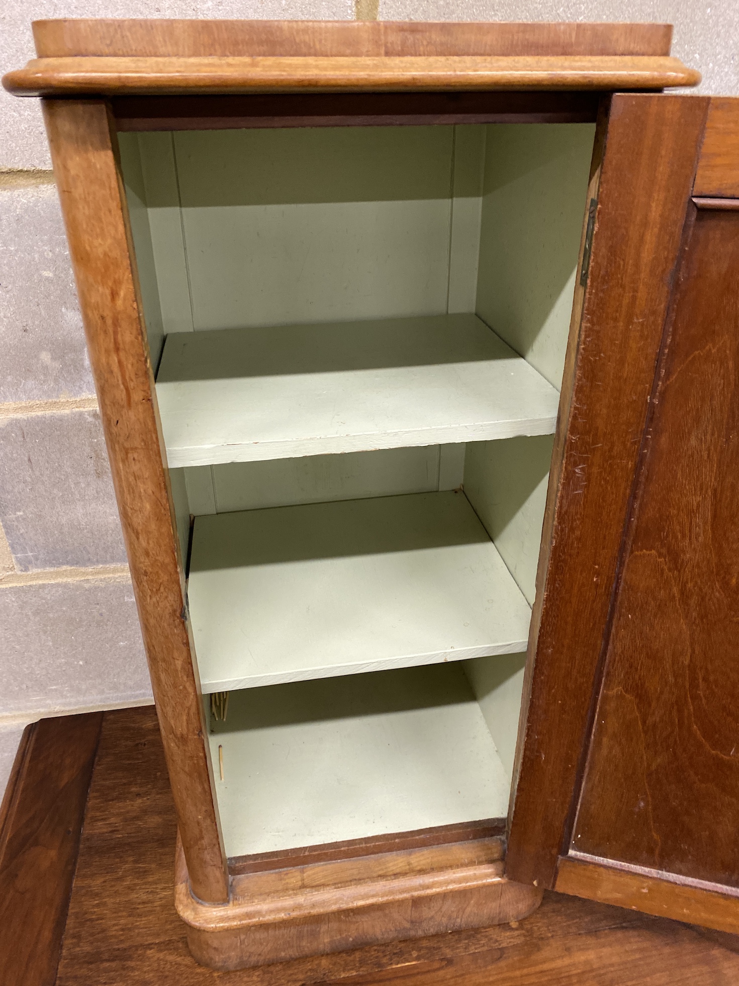
[[(593, 137), (591, 124), (121, 135), (155, 364), (162, 331), (476, 312), (560, 388)], [(532, 603), (551, 455), (544, 436), (201, 466), (172, 470), (172, 489), (183, 538), (189, 513), (463, 482)], [(523, 661), (463, 663), (508, 774)]]

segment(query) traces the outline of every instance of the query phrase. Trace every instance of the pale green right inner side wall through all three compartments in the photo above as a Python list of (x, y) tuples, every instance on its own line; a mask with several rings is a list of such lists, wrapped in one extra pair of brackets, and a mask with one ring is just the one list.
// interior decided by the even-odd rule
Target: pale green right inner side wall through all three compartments
[[(560, 389), (565, 366), (592, 124), (487, 128), (477, 314)], [(464, 491), (533, 604), (553, 436), (469, 444)], [(512, 772), (524, 654), (465, 662)]]

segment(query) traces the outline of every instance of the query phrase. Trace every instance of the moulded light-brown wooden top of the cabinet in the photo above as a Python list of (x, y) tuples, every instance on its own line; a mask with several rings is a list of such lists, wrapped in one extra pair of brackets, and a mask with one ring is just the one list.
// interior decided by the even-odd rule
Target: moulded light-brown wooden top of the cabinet
[(659, 90), (700, 73), (662, 24), (34, 22), (17, 96)]

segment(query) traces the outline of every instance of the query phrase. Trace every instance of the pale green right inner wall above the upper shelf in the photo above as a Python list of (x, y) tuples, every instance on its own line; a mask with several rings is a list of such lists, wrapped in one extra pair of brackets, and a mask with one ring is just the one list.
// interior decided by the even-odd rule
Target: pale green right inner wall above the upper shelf
[(562, 384), (595, 128), (488, 127), (476, 312)]

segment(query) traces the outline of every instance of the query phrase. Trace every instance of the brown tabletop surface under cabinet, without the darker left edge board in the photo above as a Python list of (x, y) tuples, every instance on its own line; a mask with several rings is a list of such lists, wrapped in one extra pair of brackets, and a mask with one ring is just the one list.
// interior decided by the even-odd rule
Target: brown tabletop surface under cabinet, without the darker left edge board
[(739, 938), (556, 893), (514, 926), (211, 972), (174, 913), (174, 835), (154, 711), (106, 713), (56, 986), (739, 984)]

